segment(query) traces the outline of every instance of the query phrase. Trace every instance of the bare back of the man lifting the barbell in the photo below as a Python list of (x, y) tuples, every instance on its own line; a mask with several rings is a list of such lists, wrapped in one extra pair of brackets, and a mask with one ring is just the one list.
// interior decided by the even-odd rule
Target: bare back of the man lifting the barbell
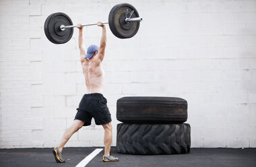
[(100, 62), (100, 60), (98, 60), (97, 57), (94, 57), (94, 59), (86, 60), (84, 61), (84, 63), (82, 63), (82, 67), (86, 80), (88, 94), (102, 94), (104, 70), (102, 68), (102, 63)]

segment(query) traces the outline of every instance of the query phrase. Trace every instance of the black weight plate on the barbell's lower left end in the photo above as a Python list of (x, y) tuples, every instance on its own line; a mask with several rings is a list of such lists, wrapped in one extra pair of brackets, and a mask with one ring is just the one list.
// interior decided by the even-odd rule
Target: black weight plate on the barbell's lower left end
[(44, 22), (44, 33), (54, 44), (64, 44), (73, 35), (73, 28), (66, 28), (62, 31), (60, 28), (61, 25), (73, 25), (69, 16), (61, 12), (49, 15)]

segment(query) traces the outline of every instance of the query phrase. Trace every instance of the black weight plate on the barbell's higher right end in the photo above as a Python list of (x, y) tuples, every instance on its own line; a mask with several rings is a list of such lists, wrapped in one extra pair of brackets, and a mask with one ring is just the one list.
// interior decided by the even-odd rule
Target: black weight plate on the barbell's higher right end
[(113, 32), (113, 34), (118, 38), (131, 38), (135, 36), (137, 31), (139, 30), (139, 22), (125, 23), (125, 20), (121, 19), (125, 19), (124, 15), (127, 12), (127, 9), (129, 13), (131, 13), (131, 11), (134, 10), (134, 13), (133, 15), (131, 15), (131, 18), (139, 18), (139, 13), (135, 9), (135, 7), (128, 3), (121, 3), (115, 5), (108, 15), (109, 28), (111, 32)]

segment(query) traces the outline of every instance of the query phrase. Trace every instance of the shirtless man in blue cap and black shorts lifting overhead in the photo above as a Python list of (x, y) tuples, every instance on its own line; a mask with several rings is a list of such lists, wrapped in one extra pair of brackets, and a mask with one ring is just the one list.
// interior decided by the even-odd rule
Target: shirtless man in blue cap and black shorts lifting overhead
[(86, 87), (88, 94), (85, 94), (77, 108), (77, 114), (73, 125), (67, 129), (61, 139), (59, 147), (53, 149), (56, 162), (64, 163), (63, 147), (73, 133), (77, 132), (83, 126), (91, 125), (92, 117), (96, 125), (102, 125), (104, 128), (104, 162), (119, 161), (118, 158), (110, 156), (110, 147), (112, 143), (112, 125), (111, 115), (106, 106), (106, 98), (102, 95), (104, 71), (101, 62), (104, 59), (106, 48), (106, 28), (102, 22), (98, 22), (98, 26), (102, 27), (102, 37), (100, 40), (100, 48), (96, 45), (90, 45), (87, 53), (84, 48), (83, 27), (77, 24), (79, 29), (79, 50), (80, 61), (83, 73), (86, 79)]

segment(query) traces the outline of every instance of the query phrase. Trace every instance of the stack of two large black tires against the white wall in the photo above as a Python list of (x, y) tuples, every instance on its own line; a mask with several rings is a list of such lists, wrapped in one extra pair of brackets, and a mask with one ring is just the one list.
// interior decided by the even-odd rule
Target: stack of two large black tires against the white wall
[(187, 101), (169, 97), (124, 97), (117, 100), (117, 152), (187, 154), (190, 125)]

